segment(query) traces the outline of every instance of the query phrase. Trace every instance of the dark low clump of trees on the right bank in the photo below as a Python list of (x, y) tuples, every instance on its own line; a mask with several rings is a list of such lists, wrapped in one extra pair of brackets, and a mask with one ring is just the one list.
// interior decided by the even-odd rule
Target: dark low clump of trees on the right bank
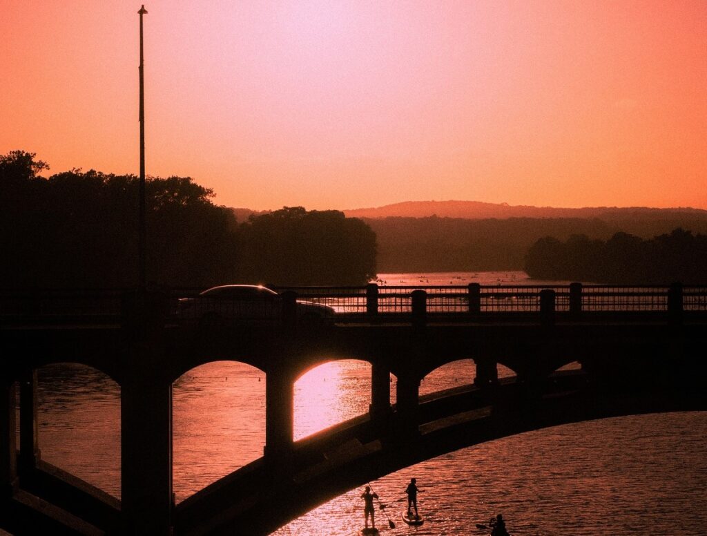
[(561, 242), (548, 236), (528, 250), (525, 272), (536, 279), (703, 284), (707, 276), (707, 235), (677, 228), (648, 240), (629, 233), (615, 233), (605, 241), (572, 235)]

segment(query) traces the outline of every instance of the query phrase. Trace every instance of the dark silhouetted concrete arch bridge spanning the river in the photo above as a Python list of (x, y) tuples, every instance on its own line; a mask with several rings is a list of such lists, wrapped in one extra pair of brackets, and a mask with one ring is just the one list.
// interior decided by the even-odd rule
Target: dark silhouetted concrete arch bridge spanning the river
[[(0, 527), (16, 535), (265, 535), (351, 487), (469, 445), (586, 419), (704, 410), (706, 290), (291, 289), (273, 309), (276, 322), (247, 324), (180, 322), (160, 292), (0, 297)], [(298, 298), (339, 313), (303, 324)], [(295, 442), (293, 385), (332, 356), (371, 363), (370, 410)], [(223, 359), (266, 376), (264, 455), (175, 506), (172, 385)], [(475, 378), (419, 396), (428, 373), (458, 359), (474, 360)], [(122, 501), (41, 459), (36, 371), (66, 361), (121, 388)], [(580, 370), (559, 371), (574, 361)], [(499, 364), (515, 378), (498, 380)]]

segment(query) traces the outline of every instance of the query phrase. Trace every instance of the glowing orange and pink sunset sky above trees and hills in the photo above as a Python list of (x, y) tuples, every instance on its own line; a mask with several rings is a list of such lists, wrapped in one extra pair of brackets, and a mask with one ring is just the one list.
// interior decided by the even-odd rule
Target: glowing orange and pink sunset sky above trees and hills
[[(707, 208), (707, 2), (146, 4), (146, 169), (216, 202)], [(0, 153), (139, 172), (140, 4), (5, 0)]]

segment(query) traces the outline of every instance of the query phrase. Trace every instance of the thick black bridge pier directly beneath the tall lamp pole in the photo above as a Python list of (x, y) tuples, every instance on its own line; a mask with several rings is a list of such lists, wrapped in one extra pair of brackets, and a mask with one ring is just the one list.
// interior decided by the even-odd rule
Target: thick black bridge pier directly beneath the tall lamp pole
[(172, 533), (172, 382), (164, 373), (164, 296), (124, 299), (120, 385), (122, 534)]

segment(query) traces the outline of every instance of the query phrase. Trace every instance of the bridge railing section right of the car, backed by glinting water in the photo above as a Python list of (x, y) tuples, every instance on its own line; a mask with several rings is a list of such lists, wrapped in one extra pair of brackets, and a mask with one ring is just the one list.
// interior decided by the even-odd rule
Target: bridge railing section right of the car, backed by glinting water
[[(349, 315), (395, 315), (424, 313), (426, 316), (540, 315), (560, 313), (578, 317), (583, 313), (666, 313), (707, 312), (707, 286), (569, 285), (501, 286), (378, 286), (287, 287), (300, 299), (329, 305)], [(416, 301), (417, 297), (417, 301)], [(416, 305), (417, 303), (417, 305)], [(563, 314), (566, 313), (566, 314)]]

